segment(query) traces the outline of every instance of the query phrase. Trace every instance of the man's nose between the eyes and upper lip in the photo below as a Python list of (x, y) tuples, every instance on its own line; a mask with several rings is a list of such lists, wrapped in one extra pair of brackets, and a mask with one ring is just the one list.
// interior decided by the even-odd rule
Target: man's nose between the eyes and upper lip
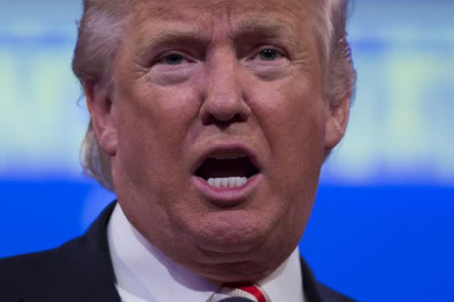
[(235, 53), (220, 52), (206, 64), (203, 104), (199, 117), (204, 125), (221, 126), (246, 121), (250, 107), (245, 100), (240, 66)]

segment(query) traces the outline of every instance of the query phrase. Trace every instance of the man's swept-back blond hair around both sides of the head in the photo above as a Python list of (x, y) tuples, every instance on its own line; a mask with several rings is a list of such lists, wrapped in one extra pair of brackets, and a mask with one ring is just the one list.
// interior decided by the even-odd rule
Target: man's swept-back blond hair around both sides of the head
[[(131, 1), (83, 0), (84, 12), (78, 23), (72, 70), (81, 84), (92, 82), (109, 90), (114, 80), (114, 62)], [(349, 0), (314, 0), (313, 30), (321, 54), (326, 101), (336, 106), (350, 95), (353, 99), (356, 72), (351, 59), (345, 23)], [(84, 172), (114, 191), (111, 159), (99, 146), (90, 121), (82, 142)]]

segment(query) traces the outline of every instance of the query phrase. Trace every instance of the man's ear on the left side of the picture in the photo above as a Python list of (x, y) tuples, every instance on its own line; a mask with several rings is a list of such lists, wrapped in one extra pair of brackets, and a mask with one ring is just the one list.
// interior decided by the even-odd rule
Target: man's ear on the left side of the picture
[(117, 135), (114, 106), (106, 89), (84, 81), (84, 94), (99, 147), (110, 156), (116, 155)]

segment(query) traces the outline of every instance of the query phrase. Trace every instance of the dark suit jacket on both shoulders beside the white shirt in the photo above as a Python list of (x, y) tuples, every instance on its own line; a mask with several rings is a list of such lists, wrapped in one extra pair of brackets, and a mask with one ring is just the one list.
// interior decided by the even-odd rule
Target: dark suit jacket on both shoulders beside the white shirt
[[(84, 235), (61, 247), (1, 259), (0, 301), (121, 302), (106, 235), (114, 206), (106, 207)], [(303, 259), (301, 271), (309, 302), (352, 301), (316, 281)]]

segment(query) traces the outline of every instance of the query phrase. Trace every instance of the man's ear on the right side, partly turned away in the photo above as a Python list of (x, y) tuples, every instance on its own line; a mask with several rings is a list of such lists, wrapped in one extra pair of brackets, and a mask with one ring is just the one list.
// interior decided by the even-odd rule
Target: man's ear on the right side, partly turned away
[(347, 129), (350, 114), (350, 95), (350, 93), (346, 94), (338, 104), (326, 105), (325, 150), (327, 152), (338, 145)]

